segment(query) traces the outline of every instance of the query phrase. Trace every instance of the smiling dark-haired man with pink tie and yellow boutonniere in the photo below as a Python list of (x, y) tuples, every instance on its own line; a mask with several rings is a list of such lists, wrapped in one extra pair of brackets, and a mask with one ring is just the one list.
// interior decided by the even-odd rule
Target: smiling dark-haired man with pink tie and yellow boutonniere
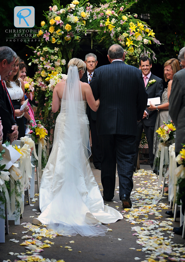
[[(142, 71), (143, 82), (145, 84), (145, 89), (148, 94), (148, 98), (160, 97), (162, 98), (163, 94), (163, 80), (159, 77), (153, 75), (150, 71), (152, 67), (152, 61), (148, 56), (143, 56), (140, 59), (139, 67)], [(154, 84), (150, 84), (150, 80), (156, 80)], [(149, 111), (147, 108), (143, 114), (143, 119), (138, 123), (137, 126), (137, 137), (136, 137), (136, 155), (134, 156), (134, 171), (136, 171), (137, 159), (138, 159), (138, 151), (139, 144), (141, 141), (141, 135), (143, 129), (145, 131), (148, 150), (149, 150), (149, 160), (150, 166), (153, 167), (154, 164), (154, 154), (153, 154), (153, 141), (154, 141), (154, 129), (157, 118), (157, 110)], [(156, 172), (156, 170), (154, 170)]]

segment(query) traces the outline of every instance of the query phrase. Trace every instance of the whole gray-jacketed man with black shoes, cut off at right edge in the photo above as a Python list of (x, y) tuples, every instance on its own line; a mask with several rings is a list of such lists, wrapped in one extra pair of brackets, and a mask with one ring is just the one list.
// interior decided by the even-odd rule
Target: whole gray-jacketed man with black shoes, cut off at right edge
[[(184, 59), (182, 59), (183, 57), (181, 50), (179, 52), (178, 59), (181, 59), (181, 64), (183, 62), (185, 66), (185, 55)], [(182, 150), (182, 144), (185, 143), (185, 68), (177, 72), (173, 77), (169, 103), (169, 114), (173, 123), (175, 124), (175, 127), (177, 128), (175, 138), (175, 155), (177, 156)], [(182, 187), (182, 185), (179, 185), (179, 193), (181, 194), (182, 213), (184, 215), (185, 188)], [(179, 228), (175, 227), (173, 231), (178, 235), (182, 235), (182, 229), (183, 226)]]

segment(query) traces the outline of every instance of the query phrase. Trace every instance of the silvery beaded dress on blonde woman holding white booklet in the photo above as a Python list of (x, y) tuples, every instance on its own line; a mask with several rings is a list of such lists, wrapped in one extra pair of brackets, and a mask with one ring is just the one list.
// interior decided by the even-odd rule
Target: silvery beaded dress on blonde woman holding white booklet
[[(161, 105), (165, 104), (168, 102), (168, 87), (164, 89), (164, 92), (162, 94), (162, 101), (161, 101)], [(156, 123), (155, 123), (155, 131), (161, 126), (163, 125), (163, 121), (165, 123), (168, 123), (168, 120), (171, 121), (171, 117), (169, 115), (168, 110), (159, 110), (158, 114), (157, 114), (157, 119), (156, 119)], [(155, 155), (157, 149), (158, 149), (158, 144), (159, 144), (159, 137), (158, 137), (158, 133), (156, 133), (154, 131), (154, 143), (153, 143), (153, 154)]]

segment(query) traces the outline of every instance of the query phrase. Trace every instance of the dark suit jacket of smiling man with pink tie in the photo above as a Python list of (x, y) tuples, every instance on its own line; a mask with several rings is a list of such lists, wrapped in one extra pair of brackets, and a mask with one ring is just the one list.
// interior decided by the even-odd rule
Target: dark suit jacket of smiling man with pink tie
[[(151, 74), (148, 82), (152, 79), (155, 79), (156, 82), (150, 86), (147, 87), (146, 91), (148, 94), (148, 98), (153, 98), (153, 97), (159, 97), (162, 99), (162, 94), (163, 94), (163, 80), (153, 74)], [(148, 112), (149, 110), (147, 110)], [(143, 119), (143, 123), (146, 126), (154, 126), (157, 118), (157, 110), (154, 111), (149, 111), (149, 117), (148, 119), (145, 117)]]

